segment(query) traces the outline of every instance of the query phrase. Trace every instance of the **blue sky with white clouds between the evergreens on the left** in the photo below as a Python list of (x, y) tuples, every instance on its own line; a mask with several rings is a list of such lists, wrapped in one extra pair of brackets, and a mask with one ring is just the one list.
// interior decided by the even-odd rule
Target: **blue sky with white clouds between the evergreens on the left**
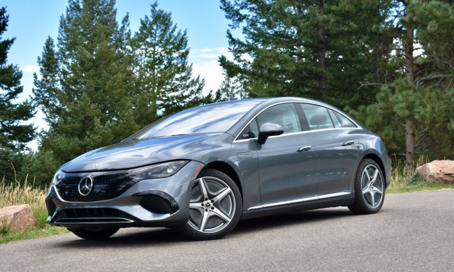
[[(131, 31), (138, 30), (140, 18), (149, 15), (154, 0), (117, 0), (118, 20), (129, 13)], [(186, 29), (189, 39), (189, 62), (194, 75), (205, 78), (205, 91), (218, 89), (223, 80), (222, 69), (217, 63), (221, 54), (228, 54), (226, 30), (228, 20), (219, 8), (219, 0), (160, 0), (159, 8), (172, 13), (179, 29)], [(66, 11), (67, 0), (0, 0), (6, 6), (9, 22), (1, 38), (15, 37), (8, 52), (8, 63), (16, 64), (23, 72), (24, 93), (20, 100), (32, 95), (33, 73), (38, 71), (37, 57), (41, 56), (47, 36), (56, 40), (59, 18)], [(46, 128), (43, 114), (38, 112), (31, 121), (39, 128)], [(36, 149), (36, 142), (31, 144)]]

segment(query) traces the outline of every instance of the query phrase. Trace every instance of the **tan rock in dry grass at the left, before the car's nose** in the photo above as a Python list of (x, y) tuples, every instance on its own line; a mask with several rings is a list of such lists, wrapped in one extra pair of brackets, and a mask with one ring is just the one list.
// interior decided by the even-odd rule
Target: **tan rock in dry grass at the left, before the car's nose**
[(11, 231), (34, 227), (37, 222), (28, 204), (6, 206), (0, 209), (0, 226), (6, 222)]

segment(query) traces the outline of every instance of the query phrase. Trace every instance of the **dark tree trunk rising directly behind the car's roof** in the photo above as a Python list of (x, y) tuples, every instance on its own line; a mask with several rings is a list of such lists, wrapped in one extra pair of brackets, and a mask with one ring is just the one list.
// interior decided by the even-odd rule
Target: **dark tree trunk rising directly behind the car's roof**
[[(318, 1), (318, 13), (320, 16), (323, 16), (325, 13), (325, 3), (324, 0)], [(318, 88), (321, 92), (322, 100), (326, 96), (326, 90), (328, 89), (327, 77), (326, 77), (326, 44), (325, 44), (325, 35), (326, 29), (325, 26), (320, 24), (318, 26), (318, 66), (321, 68), (321, 73), (318, 75)]]

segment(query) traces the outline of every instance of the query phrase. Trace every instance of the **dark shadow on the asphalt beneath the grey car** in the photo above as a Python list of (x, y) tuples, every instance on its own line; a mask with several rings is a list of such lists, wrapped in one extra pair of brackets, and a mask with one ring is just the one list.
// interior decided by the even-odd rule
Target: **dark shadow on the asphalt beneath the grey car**
[[(348, 209), (319, 209), (314, 211), (302, 211), (296, 213), (286, 213), (278, 216), (267, 216), (241, 220), (231, 234), (224, 239), (235, 239), (244, 234), (261, 232), (266, 229), (279, 229), (291, 225), (302, 225), (310, 222), (320, 222), (352, 216)], [(75, 237), (75, 236), (74, 236)], [(84, 240), (77, 239), (72, 241), (59, 241), (54, 245), (57, 248), (103, 248), (103, 247), (140, 247), (149, 245), (169, 245), (177, 243), (210, 243), (215, 241), (193, 241), (178, 229), (167, 228), (133, 228), (120, 230), (109, 239), (103, 240)]]

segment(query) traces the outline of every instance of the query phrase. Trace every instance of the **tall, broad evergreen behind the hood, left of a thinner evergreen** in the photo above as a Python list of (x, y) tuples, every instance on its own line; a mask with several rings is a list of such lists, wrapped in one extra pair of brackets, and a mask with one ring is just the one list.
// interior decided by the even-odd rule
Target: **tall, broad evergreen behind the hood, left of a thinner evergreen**
[(38, 153), (54, 162), (51, 168), (139, 128), (130, 96), (129, 21), (126, 16), (119, 25), (116, 17), (114, 0), (70, 0), (57, 45), (47, 38), (38, 58), (33, 91), (50, 126)]

